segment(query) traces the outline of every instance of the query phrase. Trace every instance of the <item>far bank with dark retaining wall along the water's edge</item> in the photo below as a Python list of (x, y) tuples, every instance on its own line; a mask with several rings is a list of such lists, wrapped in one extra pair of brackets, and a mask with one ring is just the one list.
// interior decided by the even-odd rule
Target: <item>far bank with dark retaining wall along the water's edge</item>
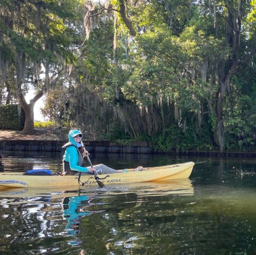
[[(34, 135), (24, 135), (21, 131), (0, 130), (0, 157), (2, 151), (62, 151), (67, 138), (57, 135), (53, 129), (36, 129)], [(129, 144), (119, 144), (116, 141), (86, 141), (84, 145), (91, 152), (103, 153), (135, 153), (135, 154), (172, 154), (180, 156), (198, 157), (256, 157), (256, 151), (227, 151), (220, 153), (218, 150), (197, 151), (153, 151), (153, 143), (147, 141), (131, 141)]]

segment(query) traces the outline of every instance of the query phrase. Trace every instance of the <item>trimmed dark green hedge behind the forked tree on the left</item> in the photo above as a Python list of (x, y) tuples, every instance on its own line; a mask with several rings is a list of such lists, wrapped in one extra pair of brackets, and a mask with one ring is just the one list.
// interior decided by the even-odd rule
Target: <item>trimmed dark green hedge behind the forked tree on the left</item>
[(18, 113), (18, 104), (0, 106), (0, 129), (22, 130), (25, 124), (25, 112), (21, 108)]

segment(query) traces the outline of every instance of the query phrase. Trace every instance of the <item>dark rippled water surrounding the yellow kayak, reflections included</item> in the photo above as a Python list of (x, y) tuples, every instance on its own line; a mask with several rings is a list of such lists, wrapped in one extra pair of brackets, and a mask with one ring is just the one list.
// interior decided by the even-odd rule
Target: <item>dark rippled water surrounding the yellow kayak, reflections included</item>
[[(187, 161), (188, 180), (0, 191), (0, 254), (256, 254), (254, 159), (91, 155), (122, 169)], [(243, 170), (245, 175), (233, 169)], [(59, 154), (4, 154), (0, 171), (61, 171)]]

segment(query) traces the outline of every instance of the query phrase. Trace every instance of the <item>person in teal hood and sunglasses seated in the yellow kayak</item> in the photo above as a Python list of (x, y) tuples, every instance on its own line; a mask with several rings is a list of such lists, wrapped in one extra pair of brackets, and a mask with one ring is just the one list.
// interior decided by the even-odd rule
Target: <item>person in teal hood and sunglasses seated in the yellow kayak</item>
[(82, 175), (92, 174), (94, 171), (97, 174), (110, 174), (120, 173), (116, 169), (112, 169), (106, 165), (99, 164), (94, 167), (84, 166), (84, 157), (89, 154), (82, 147), (82, 133), (79, 130), (72, 129), (69, 131), (69, 142), (62, 146), (62, 150), (65, 150), (63, 155), (63, 171), (66, 175)]

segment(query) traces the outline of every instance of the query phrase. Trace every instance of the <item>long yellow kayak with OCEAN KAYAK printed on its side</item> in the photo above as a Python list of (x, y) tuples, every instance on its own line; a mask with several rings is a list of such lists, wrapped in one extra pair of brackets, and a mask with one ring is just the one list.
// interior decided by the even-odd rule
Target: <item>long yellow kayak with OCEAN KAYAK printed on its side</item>
[[(110, 175), (99, 175), (100, 181), (105, 184), (124, 184), (149, 181), (166, 181), (174, 179), (188, 178), (192, 172), (194, 162), (175, 164), (169, 166), (156, 166), (145, 168), (146, 171), (120, 172)], [(94, 175), (81, 175), (80, 181), (84, 187), (97, 185)], [(23, 175), (23, 173), (3, 172), (0, 173), (0, 188), (20, 188), (20, 187), (61, 187), (80, 186), (76, 175)]]

